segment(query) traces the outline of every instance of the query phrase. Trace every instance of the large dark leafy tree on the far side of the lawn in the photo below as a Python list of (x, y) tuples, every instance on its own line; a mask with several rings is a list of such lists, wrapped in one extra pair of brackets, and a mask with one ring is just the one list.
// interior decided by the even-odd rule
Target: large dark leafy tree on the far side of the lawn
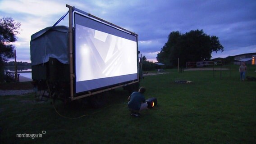
[(209, 36), (203, 30), (189, 31), (185, 34), (173, 31), (165, 46), (157, 54), (157, 60), (160, 63), (177, 66), (179, 58), (180, 65), (185, 66), (187, 61), (210, 60), (212, 52), (223, 52), (223, 50), (219, 38)]

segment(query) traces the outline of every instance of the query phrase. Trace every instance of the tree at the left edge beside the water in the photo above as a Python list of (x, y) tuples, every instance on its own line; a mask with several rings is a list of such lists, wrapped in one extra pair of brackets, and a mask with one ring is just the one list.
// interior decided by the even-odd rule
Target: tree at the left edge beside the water
[(14, 19), (1, 18), (0, 19), (0, 82), (3, 81), (4, 77), (4, 63), (9, 58), (14, 58), (15, 45), (12, 43), (17, 40), (18, 30), (21, 24), (14, 22)]

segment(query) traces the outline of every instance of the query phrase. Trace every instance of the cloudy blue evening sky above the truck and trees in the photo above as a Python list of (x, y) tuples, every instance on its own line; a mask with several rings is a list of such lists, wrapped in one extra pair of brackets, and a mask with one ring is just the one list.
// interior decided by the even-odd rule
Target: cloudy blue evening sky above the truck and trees
[[(224, 52), (212, 58), (256, 53), (256, 0), (0, 0), (0, 18), (21, 23), (17, 61), (31, 62), (31, 35), (54, 25), (66, 4), (137, 33), (138, 49), (152, 62), (172, 31), (219, 37)], [(68, 16), (58, 25), (68, 26)]]

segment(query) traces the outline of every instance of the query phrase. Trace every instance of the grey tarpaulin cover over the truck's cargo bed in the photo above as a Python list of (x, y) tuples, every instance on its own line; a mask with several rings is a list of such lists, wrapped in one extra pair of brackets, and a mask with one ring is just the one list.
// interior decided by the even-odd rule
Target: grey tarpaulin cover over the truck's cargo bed
[(46, 63), (49, 58), (56, 58), (59, 62), (69, 64), (69, 27), (46, 27), (33, 34), (30, 41), (30, 55), (32, 65)]

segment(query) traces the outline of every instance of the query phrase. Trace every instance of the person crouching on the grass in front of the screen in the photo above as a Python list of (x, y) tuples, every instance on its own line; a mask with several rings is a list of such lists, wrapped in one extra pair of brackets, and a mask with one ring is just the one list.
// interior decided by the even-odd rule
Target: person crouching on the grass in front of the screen
[(145, 87), (141, 87), (138, 92), (133, 92), (128, 97), (128, 108), (132, 112), (131, 115), (138, 117), (142, 110), (147, 108), (146, 99), (144, 93), (146, 92)]

